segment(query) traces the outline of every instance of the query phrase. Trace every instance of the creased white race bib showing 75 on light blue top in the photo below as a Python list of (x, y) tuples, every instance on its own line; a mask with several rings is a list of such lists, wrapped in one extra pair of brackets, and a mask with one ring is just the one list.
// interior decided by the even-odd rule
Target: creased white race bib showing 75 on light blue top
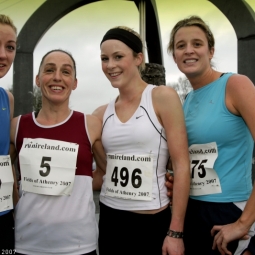
[(221, 185), (216, 171), (213, 169), (218, 157), (215, 142), (193, 144), (189, 147), (190, 156), (190, 195), (201, 196), (221, 193)]

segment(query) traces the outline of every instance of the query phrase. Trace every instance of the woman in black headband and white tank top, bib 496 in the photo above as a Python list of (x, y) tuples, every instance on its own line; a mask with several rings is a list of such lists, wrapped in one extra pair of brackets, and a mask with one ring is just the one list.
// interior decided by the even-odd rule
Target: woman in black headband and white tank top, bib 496
[[(115, 100), (94, 112), (103, 122), (107, 155), (100, 255), (183, 255), (189, 158), (181, 102), (172, 88), (142, 80), (143, 45), (135, 31), (112, 28), (100, 47), (102, 70), (119, 90)], [(169, 155), (176, 178), (172, 213), (164, 186)]]

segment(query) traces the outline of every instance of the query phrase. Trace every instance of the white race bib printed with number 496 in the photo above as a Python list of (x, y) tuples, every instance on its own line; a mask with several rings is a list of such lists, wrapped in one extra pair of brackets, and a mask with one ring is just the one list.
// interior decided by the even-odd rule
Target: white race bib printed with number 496
[(152, 200), (151, 155), (107, 154), (106, 195), (122, 199)]

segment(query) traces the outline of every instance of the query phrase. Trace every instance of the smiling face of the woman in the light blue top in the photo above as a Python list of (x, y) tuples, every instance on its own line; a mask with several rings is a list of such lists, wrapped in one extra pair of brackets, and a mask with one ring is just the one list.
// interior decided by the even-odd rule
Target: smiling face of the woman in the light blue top
[(197, 26), (180, 28), (174, 37), (173, 57), (188, 78), (202, 75), (211, 68), (214, 48), (209, 50), (204, 31)]

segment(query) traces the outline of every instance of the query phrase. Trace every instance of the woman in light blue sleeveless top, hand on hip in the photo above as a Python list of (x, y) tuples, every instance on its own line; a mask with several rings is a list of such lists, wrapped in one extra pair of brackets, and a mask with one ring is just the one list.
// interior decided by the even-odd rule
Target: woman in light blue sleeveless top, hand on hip
[(174, 26), (168, 50), (193, 87), (183, 106), (191, 163), (185, 254), (255, 254), (254, 85), (211, 67), (214, 37), (197, 16)]

